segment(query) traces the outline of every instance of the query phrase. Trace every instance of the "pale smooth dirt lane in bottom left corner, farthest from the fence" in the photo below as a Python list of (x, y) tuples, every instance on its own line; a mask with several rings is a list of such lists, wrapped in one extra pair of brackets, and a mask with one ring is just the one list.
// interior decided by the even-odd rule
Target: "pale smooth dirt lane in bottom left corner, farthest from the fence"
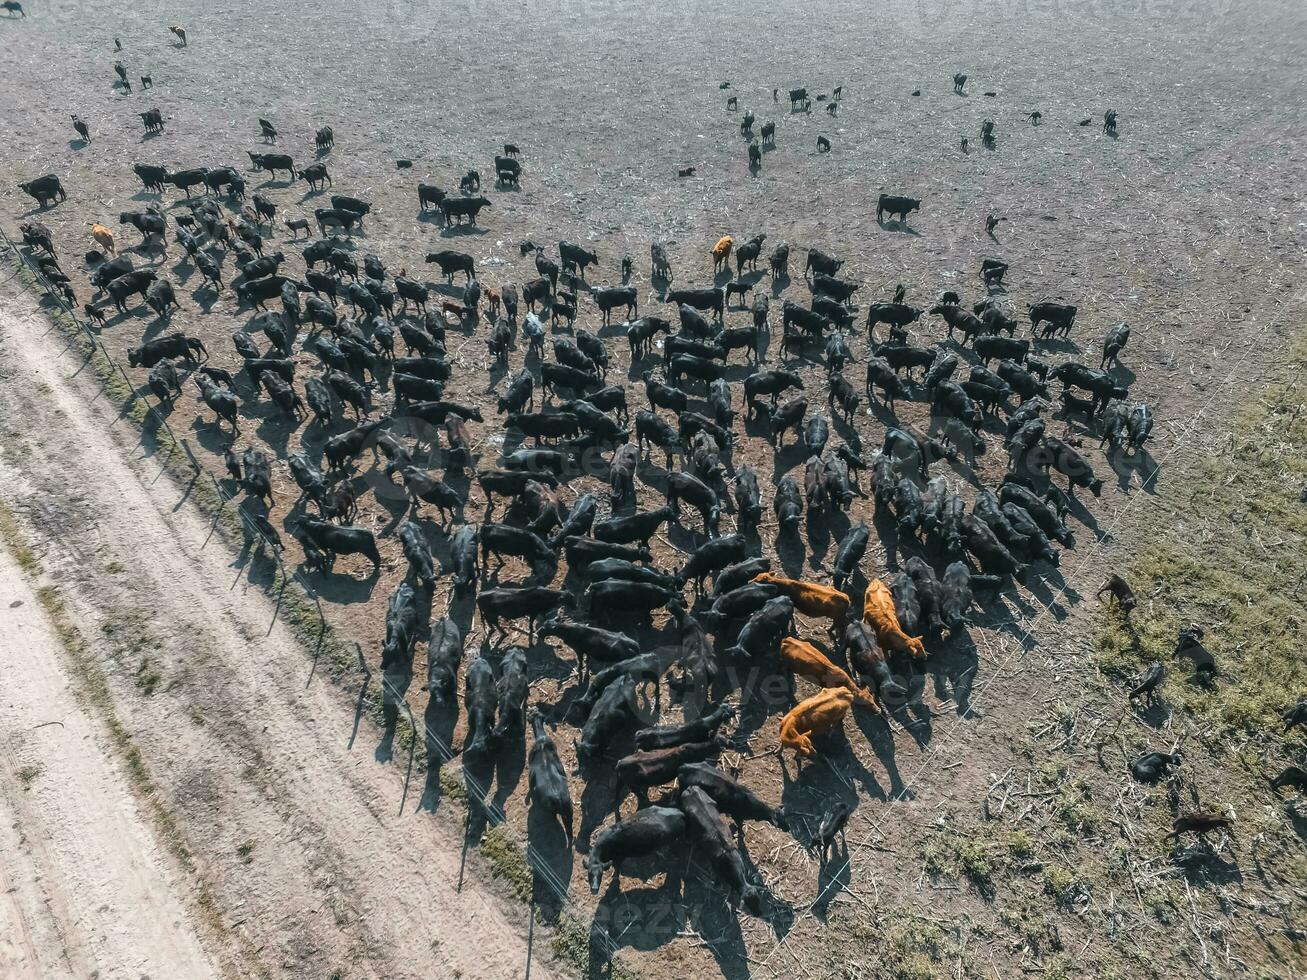
[(0, 973), (217, 976), (103, 725), (0, 550)]

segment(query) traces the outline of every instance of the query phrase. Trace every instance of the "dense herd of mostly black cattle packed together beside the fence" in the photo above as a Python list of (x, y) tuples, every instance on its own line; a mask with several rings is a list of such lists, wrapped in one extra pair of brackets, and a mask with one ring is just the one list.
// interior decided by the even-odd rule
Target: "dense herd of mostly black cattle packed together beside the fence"
[[(163, 125), (158, 114), (142, 114), (142, 122)], [(276, 127), (259, 122), (264, 140), (276, 141)], [(85, 123), (74, 123), (89, 141)], [(329, 128), (315, 135), (319, 157), (333, 144)], [(630, 257), (621, 260), (621, 285), (592, 286), (587, 276), (608, 263), (570, 242), (553, 248), (521, 242), (521, 260), (532, 256), (536, 274), (498, 285), (481, 281), (476, 256), (440, 248), (426, 255), (439, 269), (427, 282), (408, 267), (392, 273), (375, 253), (359, 260), (356, 235), (366, 234), (372, 204), (353, 196), (331, 195), (331, 206), (315, 209), (312, 221), (282, 216), (290, 237), (273, 247), (281, 214), (274, 188), (302, 179), (325, 193), (332, 178), (324, 159), (301, 169), (289, 154), (248, 155), (252, 171), (268, 178), (252, 192), (248, 172), (234, 166), (136, 165), (144, 189), (161, 199), (119, 216), (141, 237), (137, 257), (119, 247), (122, 233), (95, 223), (85, 287), (65, 273), (39, 216), (21, 225), (24, 246), (71, 303), (112, 329), (131, 321), (137, 297), (157, 320), (180, 307), (162, 264), (140, 264), (142, 255), (167, 253), (171, 226), (180, 263), (193, 267), (214, 297), (230, 291), (238, 315), (252, 312), (231, 337), (237, 357), (227, 367), (213, 363), (201, 338), (180, 332), (142, 340), (129, 350), (129, 366), (169, 408), (190, 379), (201, 412), (230, 429), (229, 476), (244, 490), (251, 520), (277, 546), (273, 459), (254, 444), (237, 451), (242, 416), (261, 416), (264, 408), (255, 405), (261, 400), (291, 427), (311, 416), (301, 451), (285, 459), (298, 499), (281, 527), (318, 574), (331, 575), (339, 555), (366, 558), (374, 575), (382, 567), (374, 532), (354, 523), (367, 486), (358, 473), (370, 469), (403, 495), (406, 520), (393, 537), (406, 575), (389, 598), (380, 651), (387, 715), (393, 719), (406, 696), (414, 651), (425, 640), (433, 703), (456, 712), (463, 677), (467, 758), (523, 745), (529, 723), (531, 800), (557, 814), (570, 841), (570, 776), (546, 724), (576, 728), (582, 772), (616, 767), (614, 811), (629, 792), (640, 804), (588, 843), (595, 891), (606, 868), (690, 838), (732, 895), (759, 913), (763, 892), (753, 862), (725, 818), (800, 828), (784, 808), (763, 802), (716, 764), (729, 743), (723, 729), (737, 715), (737, 695), (752, 696), (738, 689), (740, 668), (799, 674), (816, 686), (797, 698), (791, 682), (776, 753), (818, 757), (821, 737), (842, 728), (851, 711), (889, 713), (915, 696), (911, 678), (932, 647), (946, 648), (965, 635), (978, 593), (1056, 575), (1060, 549), (1074, 545), (1068, 517), (1078, 510), (1076, 491), (1098, 497), (1103, 487), (1082, 451), (1084, 435), (1072, 435), (1072, 419), (1124, 457), (1144, 451), (1151, 434), (1149, 406), (1131, 401), (1125, 372), (1117, 370), (1129, 327), (1104, 331), (1097, 367), (1048, 363), (1042, 345), (1065, 349), (1077, 307), (1036, 302), (1026, 307), (1027, 325), (1018, 323), (1006, 301), (1009, 269), (1000, 260), (978, 269), (972, 303), (944, 290), (912, 306), (901, 286), (893, 298), (868, 301), (859, 311), (853, 298), (868, 287), (840, 276), (840, 257), (808, 248), (801, 270), (808, 297), (784, 298), (779, 316), (771, 299), (795, 286), (791, 246), (772, 247), (758, 272), (765, 234), (740, 243), (721, 238), (706, 250), (711, 280), (706, 269), (685, 270), (707, 280), (693, 287), (680, 282), (665, 243), (651, 244), (647, 291), (633, 285)], [(518, 146), (505, 145), (494, 158), (497, 184), (519, 184), (518, 161)], [(286, 184), (274, 183), (280, 174)], [(21, 188), (42, 209), (67, 200), (55, 175)], [(165, 209), (170, 188), (180, 201)], [(468, 171), (456, 191), (418, 184), (417, 204), (422, 212), (438, 208), (446, 230), (456, 231), (491, 206), (480, 189), (480, 175)], [(906, 222), (921, 206), (882, 195), (877, 220)], [(310, 240), (297, 253), (291, 243), (301, 234)], [(293, 274), (290, 260), (303, 270)], [(91, 293), (80, 297), (78, 289)], [(642, 301), (655, 302), (656, 312), (642, 315)], [(621, 327), (613, 324), (614, 311), (625, 314)], [(593, 331), (578, 325), (586, 315), (593, 315)], [(728, 323), (737, 315), (738, 323)], [(942, 336), (928, 342), (921, 332), (935, 323)], [(448, 353), (451, 332), (486, 344), (490, 379), (499, 385), (493, 408), (446, 397), (460, 370)], [(610, 340), (621, 335), (630, 371), (613, 380)], [(901, 419), (902, 401), (924, 402), (929, 425)], [(1052, 431), (1055, 412), (1067, 422), (1061, 435)], [(519, 448), (488, 451), (469, 426), (488, 434), (502, 429)], [(844, 438), (833, 442), (833, 427)], [(864, 444), (863, 435), (876, 427), (880, 434)], [(1002, 447), (1008, 466), (997, 485), (984, 486), (975, 461), (991, 444)], [(745, 461), (769, 446), (775, 478)], [(792, 468), (797, 473), (784, 472)], [(864, 474), (870, 527), (846, 516), (865, 497)], [(967, 482), (974, 489), (965, 495)], [(561, 493), (569, 483), (576, 489), (570, 506)], [(638, 483), (656, 489), (665, 503), (639, 510)], [(464, 516), (473, 487), (486, 507), (480, 523)], [(507, 507), (497, 520), (501, 503)], [(423, 507), (439, 520), (420, 520)], [(846, 528), (829, 583), (783, 575), (763, 554), (765, 533), (774, 533), (778, 555), (802, 547), (805, 517), (809, 528)], [(721, 531), (724, 520), (729, 533)], [(668, 525), (680, 525), (695, 542), (684, 557), (651, 547)], [(891, 567), (898, 567), (895, 555), (906, 555), (901, 570), (865, 571), (873, 531)], [(433, 558), (438, 538), (446, 567)], [(521, 581), (499, 580), (523, 568)], [(566, 581), (554, 587), (561, 572)], [(446, 576), (451, 606), (474, 597), (481, 618), (484, 643), (465, 664), (464, 627), (451, 614), (431, 618)], [(1110, 580), (1104, 591), (1124, 610), (1133, 605), (1123, 580)], [(664, 613), (673, 639), (654, 643), (648, 630)], [(825, 622), (825, 636), (805, 639), (796, 615)], [(514, 623), (525, 626), (528, 645), (515, 643)], [(546, 639), (574, 651), (580, 687), (566, 704), (528, 710), (536, 679), (528, 653)], [(664, 683), (686, 703), (698, 703), (691, 693), (704, 703), (687, 710), (681, 724), (656, 724), (640, 699), (652, 689), (661, 704)], [(1153, 687), (1145, 683), (1136, 695)], [(672, 784), (651, 801), (652, 792)], [(836, 806), (819, 826), (805, 825), (805, 843), (829, 844), (848, 811)]]

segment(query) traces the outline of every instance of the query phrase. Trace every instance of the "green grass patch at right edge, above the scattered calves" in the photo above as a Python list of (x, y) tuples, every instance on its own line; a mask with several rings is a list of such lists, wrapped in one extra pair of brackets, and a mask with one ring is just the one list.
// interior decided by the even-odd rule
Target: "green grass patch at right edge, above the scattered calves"
[[(1304, 362), (1307, 345), (1295, 345), (1287, 378)], [(1274, 384), (1195, 463), (1179, 519), (1140, 549), (1127, 575), (1138, 608), (1127, 621), (1104, 606), (1094, 638), (1099, 666), (1119, 678), (1162, 661), (1161, 695), (1209, 740), (1278, 737), (1280, 715), (1307, 690), (1307, 392)], [(1212, 689), (1174, 659), (1191, 623), (1221, 670)]]

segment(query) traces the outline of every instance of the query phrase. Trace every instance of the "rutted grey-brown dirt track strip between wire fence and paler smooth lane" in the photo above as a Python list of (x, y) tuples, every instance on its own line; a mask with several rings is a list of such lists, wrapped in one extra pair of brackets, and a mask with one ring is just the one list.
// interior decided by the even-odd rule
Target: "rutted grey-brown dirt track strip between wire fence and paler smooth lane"
[[(0, 485), (217, 898), (226, 972), (520, 976), (524, 912), (476, 857), (455, 892), (457, 828), (396, 817), (401, 774), (366, 728), (346, 747), (340, 693), (305, 687), (289, 630), (264, 635), (272, 604), (77, 368), (30, 299), (0, 297)], [(540, 956), (532, 973), (554, 975)]]

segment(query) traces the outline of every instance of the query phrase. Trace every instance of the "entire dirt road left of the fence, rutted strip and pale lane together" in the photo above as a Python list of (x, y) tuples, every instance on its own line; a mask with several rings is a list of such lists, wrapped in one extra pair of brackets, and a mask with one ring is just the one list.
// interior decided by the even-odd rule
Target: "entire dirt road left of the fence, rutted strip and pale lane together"
[[(520, 976), (524, 916), (481, 886), (476, 857), (455, 892), (459, 828), (396, 815), (403, 774), (374, 759), (384, 746), (365, 725), (348, 747), (341, 694), (306, 687), (305, 652), (280, 623), (268, 632), (272, 605), (218, 538), (205, 544), (208, 523), (48, 329), (29, 299), (0, 297), (0, 486), (193, 870), (159, 858), (42, 645), (31, 595), (0, 566), (7, 601), (24, 602), (7, 610), (17, 639), (0, 638), (14, 678), (5, 975), (191, 977), (213, 972), (212, 958), (238, 976)], [(31, 730), (48, 720), (64, 727)], [(204, 924), (208, 955), (188, 920)], [(532, 975), (553, 976), (542, 947)]]

